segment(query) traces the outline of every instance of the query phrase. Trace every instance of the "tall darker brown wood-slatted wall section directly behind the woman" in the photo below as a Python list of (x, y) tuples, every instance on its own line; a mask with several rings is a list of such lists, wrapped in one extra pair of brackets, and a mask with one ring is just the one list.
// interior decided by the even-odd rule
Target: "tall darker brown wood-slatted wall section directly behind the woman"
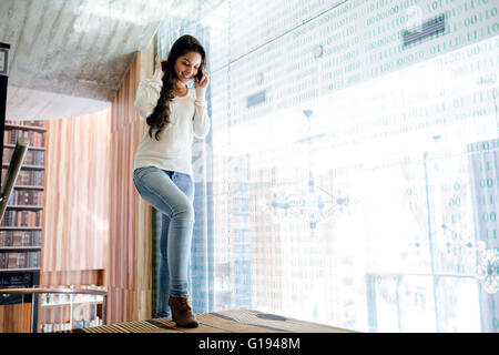
[(144, 122), (133, 103), (142, 79), (152, 75), (153, 44), (138, 52), (112, 104), (110, 245), (106, 284), (110, 323), (151, 317), (151, 206), (138, 194), (132, 168)]

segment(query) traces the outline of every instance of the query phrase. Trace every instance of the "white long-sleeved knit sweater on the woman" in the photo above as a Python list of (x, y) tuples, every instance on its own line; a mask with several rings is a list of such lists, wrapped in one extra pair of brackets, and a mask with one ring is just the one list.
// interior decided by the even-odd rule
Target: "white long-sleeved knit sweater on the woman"
[[(146, 119), (153, 112), (160, 99), (162, 71), (156, 70), (151, 79), (139, 83), (135, 109)], [(210, 131), (205, 88), (189, 89), (185, 97), (175, 97), (170, 103), (170, 121), (161, 134), (160, 141), (149, 135), (149, 125), (144, 124), (135, 153), (133, 170), (143, 166), (176, 171), (193, 176), (192, 143), (194, 135), (203, 139)]]

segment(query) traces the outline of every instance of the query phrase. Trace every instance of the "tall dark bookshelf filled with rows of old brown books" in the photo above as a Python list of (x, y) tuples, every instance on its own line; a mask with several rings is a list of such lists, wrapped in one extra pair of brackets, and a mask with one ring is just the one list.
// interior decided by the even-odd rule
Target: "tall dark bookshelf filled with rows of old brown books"
[[(0, 288), (32, 287), (40, 283), (41, 233), (45, 165), (44, 121), (6, 121), (2, 183), (20, 136), (30, 141), (21, 170), (0, 223)], [(9, 295), (0, 306), (31, 308), (31, 297)], [(19, 332), (29, 329), (19, 329)]]

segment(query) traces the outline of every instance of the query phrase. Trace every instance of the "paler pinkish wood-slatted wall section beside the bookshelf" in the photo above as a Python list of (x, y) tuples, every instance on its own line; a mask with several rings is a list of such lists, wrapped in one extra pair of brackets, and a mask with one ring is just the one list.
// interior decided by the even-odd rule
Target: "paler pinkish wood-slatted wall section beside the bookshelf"
[(48, 121), (41, 284), (55, 282), (48, 272), (105, 267), (110, 123), (111, 109)]

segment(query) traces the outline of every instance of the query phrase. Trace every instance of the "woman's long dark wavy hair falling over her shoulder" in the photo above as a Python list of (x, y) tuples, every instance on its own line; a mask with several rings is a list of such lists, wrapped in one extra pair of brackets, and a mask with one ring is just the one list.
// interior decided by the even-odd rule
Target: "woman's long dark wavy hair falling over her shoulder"
[[(151, 138), (153, 138), (154, 130), (156, 131), (154, 133), (154, 138), (156, 139), (156, 141), (160, 140), (161, 133), (170, 123), (170, 102), (173, 100), (173, 85), (175, 83), (175, 80), (177, 79), (174, 70), (176, 59), (187, 52), (200, 53), (201, 67), (205, 67), (206, 53), (203, 45), (194, 37), (185, 34), (179, 38), (175, 43), (173, 43), (169, 53), (169, 58), (166, 60), (166, 65), (164, 65), (163, 63), (162, 68), (164, 75), (160, 99), (157, 100), (157, 104), (154, 108), (154, 111), (145, 120), (145, 122), (147, 122), (147, 124), (150, 125), (149, 135)], [(201, 70), (201, 67), (198, 70)]]

